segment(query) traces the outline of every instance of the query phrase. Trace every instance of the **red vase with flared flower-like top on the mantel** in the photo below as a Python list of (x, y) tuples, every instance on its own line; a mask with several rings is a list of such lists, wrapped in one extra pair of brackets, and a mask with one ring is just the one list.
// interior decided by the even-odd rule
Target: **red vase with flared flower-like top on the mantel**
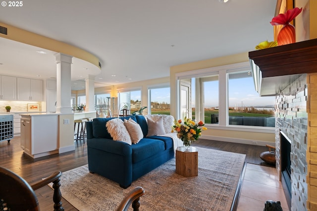
[(272, 26), (284, 25), (277, 35), (278, 45), (296, 42), (295, 27), (289, 22), (291, 22), (299, 13), (301, 13), (302, 9), (303, 8), (295, 7), (294, 9), (287, 10), (285, 14), (279, 14), (272, 18), (272, 21), (270, 21)]

